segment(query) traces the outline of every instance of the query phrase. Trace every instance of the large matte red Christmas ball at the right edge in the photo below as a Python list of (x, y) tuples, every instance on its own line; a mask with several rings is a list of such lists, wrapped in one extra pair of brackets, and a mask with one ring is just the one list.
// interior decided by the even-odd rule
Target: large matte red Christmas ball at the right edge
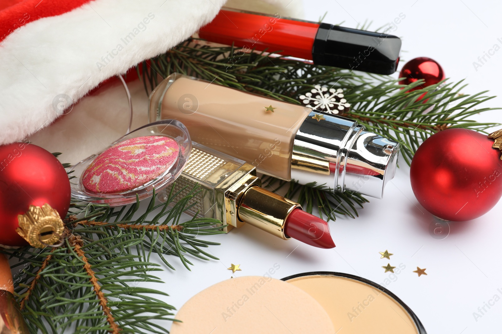
[(410, 169), (419, 203), (444, 220), (471, 220), (488, 212), (502, 195), (502, 162), (493, 145), (493, 139), (467, 129), (447, 129), (425, 140)]

